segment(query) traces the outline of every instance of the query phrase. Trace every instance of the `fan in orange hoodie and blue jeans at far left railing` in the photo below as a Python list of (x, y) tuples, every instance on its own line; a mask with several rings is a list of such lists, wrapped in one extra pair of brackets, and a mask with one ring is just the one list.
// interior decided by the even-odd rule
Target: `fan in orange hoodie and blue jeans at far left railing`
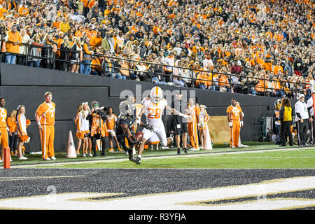
[(8, 41), (6, 41), (6, 64), (16, 63), (15, 54), (20, 53), (20, 43), (22, 43), (22, 37), (16, 25), (13, 25), (8, 31)]

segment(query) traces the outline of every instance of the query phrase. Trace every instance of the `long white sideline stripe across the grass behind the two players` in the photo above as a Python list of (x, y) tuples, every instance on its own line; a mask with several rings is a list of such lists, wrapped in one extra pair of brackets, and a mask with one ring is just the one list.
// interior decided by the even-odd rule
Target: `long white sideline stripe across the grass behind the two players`
[[(315, 148), (315, 147), (311, 147)], [(307, 148), (307, 149), (311, 149)], [(299, 151), (299, 150), (304, 150), (306, 148), (279, 148), (279, 149), (259, 149), (259, 150), (252, 150), (252, 151), (235, 151), (235, 152), (222, 152), (222, 153), (208, 153), (208, 154), (187, 154), (187, 155), (162, 155), (162, 156), (153, 156), (153, 157), (143, 157), (144, 160), (159, 160), (159, 159), (167, 159), (167, 158), (193, 158), (193, 157), (203, 157), (203, 156), (211, 156), (214, 157), (214, 159), (218, 158), (218, 155), (231, 155), (231, 154), (242, 154), (242, 153), (265, 153), (267, 152), (274, 152), (274, 151)], [(145, 155), (145, 153), (144, 153)], [(313, 157), (311, 157), (313, 158)], [(222, 158), (220, 158), (222, 159)], [(232, 158), (225, 158), (225, 159), (232, 159)], [(237, 159), (246, 159), (246, 158), (237, 158)], [(254, 158), (253, 158), (254, 159)], [(260, 159), (260, 158), (255, 158), (255, 159)], [(265, 159), (265, 158), (261, 158)], [(270, 158), (268, 158), (270, 159)], [(124, 162), (127, 161), (128, 158), (123, 158), (123, 159), (113, 159), (113, 160), (90, 160), (90, 161), (76, 161), (76, 162), (54, 162), (54, 163), (41, 163), (41, 164), (35, 164), (35, 165), (18, 165), (18, 166), (12, 166), (12, 168), (35, 168), (35, 167), (58, 167), (58, 166), (63, 166), (63, 165), (81, 165), (81, 164), (94, 164), (94, 163), (99, 163), (99, 162)]]

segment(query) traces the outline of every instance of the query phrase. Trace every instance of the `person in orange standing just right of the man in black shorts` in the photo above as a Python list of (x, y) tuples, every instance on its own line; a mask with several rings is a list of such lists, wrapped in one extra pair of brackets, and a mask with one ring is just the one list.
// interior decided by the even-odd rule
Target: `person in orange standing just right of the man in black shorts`
[(198, 140), (198, 132), (197, 132), (197, 123), (199, 119), (200, 109), (194, 104), (194, 99), (189, 99), (188, 104), (188, 115), (190, 119), (188, 119), (188, 135), (190, 138), (190, 144), (192, 151), (198, 151), (199, 148), (199, 140)]

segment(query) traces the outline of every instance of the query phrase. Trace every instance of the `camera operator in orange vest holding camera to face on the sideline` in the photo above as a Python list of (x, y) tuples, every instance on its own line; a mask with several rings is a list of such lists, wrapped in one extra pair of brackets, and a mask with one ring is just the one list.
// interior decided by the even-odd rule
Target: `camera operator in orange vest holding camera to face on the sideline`
[(106, 134), (106, 107), (99, 108), (99, 102), (92, 102), (92, 109), (86, 117), (90, 123), (90, 133), (92, 140), (93, 157), (97, 156), (96, 143), (97, 139), (102, 141), (102, 153), (101, 156), (105, 156), (105, 134)]

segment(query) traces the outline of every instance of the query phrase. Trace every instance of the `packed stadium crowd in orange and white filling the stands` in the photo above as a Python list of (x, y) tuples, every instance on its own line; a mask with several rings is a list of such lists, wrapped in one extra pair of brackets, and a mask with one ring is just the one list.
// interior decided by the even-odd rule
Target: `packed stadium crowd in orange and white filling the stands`
[(9, 64), (270, 97), (311, 94), (309, 0), (5, 0), (0, 7)]

